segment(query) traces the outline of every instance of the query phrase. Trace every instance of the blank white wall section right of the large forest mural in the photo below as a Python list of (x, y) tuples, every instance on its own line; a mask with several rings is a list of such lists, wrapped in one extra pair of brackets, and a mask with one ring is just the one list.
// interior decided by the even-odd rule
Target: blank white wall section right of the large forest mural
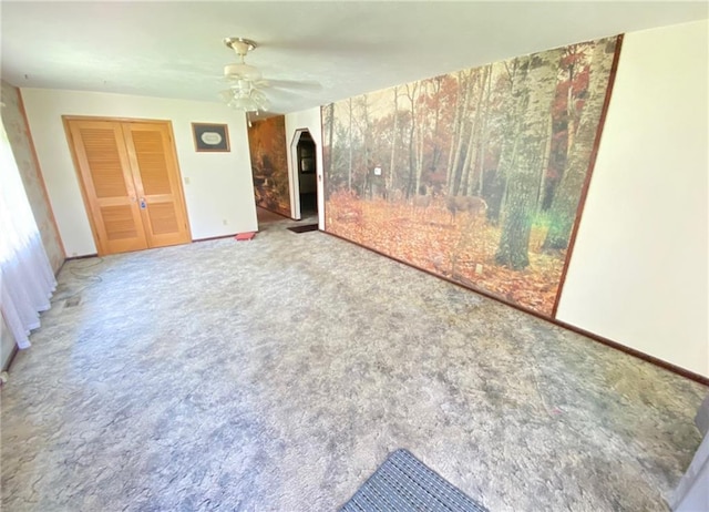
[(628, 33), (557, 318), (709, 377), (707, 21)]

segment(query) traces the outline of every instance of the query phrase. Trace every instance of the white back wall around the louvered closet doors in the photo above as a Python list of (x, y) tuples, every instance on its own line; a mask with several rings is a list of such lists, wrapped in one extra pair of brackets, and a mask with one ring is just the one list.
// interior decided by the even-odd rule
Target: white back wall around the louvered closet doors
[[(22, 89), (32, 139), (66, 256), (96, 253), (62, 115), (169, 120), (193, 239), (257, 231), (243, 113), (219, 103), (99, 92)], [(195, 152), (193, 122), (227, 123), (229, 153)]]

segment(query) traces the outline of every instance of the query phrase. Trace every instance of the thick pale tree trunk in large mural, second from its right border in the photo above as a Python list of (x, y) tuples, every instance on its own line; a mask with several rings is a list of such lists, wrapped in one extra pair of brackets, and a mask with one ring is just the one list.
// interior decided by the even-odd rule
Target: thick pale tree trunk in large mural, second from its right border
[(502, 236), (495, 262), (515, 270), (530, 264), (528, 246), (540, 170), (546, 161), (549, 132), (547, 115), (556, 92), (556, 76), (562, 50), (525, 57), (524, 83), (521, 84), (517, 110), (522, 122), (514, 136), (512, 158), (503, 170), (507, 177), (507, 197)]

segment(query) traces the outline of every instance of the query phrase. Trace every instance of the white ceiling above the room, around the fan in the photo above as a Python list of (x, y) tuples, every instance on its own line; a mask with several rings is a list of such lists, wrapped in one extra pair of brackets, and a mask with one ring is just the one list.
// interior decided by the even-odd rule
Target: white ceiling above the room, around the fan
[[(620, 32), (709, 17), (698, 2), (8, 2), (2, 79), (20, 88), (218, 102), (222, 40), (259, 48), (273, 112)], [(281, 84), (282, 85), (282, 84)]]

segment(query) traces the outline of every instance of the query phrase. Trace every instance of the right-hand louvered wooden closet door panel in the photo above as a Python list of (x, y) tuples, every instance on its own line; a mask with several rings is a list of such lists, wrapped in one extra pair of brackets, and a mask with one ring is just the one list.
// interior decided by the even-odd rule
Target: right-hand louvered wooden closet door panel
[(123, 130), (150, 246), (191, 242), (169, 124), (125, 123)]

